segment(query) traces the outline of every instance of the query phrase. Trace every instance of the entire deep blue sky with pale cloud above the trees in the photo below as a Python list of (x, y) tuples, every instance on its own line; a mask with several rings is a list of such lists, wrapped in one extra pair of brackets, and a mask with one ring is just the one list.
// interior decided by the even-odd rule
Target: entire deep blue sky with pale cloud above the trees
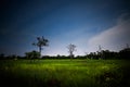
[(129, 0), (0, 0), (0, 53), (38, 50), (36, 37), (49, 39), (42, 54), (76, 55), (130, 45)]

